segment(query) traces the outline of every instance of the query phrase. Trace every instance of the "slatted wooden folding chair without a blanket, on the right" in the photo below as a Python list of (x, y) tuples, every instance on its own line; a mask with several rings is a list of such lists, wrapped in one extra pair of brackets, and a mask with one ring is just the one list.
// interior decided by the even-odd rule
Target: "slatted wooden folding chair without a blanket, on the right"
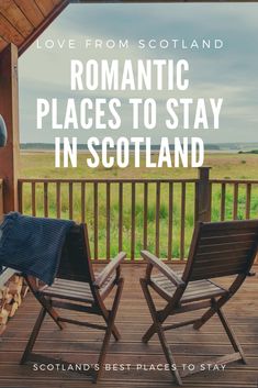
[[(153, 318), (153, 324), (143, 336), (143, 342), (147, 343), (157, 333), (166, 359), (168, 364), (172, 365), (175, 359), (166, 341), (165, 331), (188, 324), (193, 324), (194, 329), (200, 329), (217, 313), (232, 343), (234, 353), (222, 356), (211, 362), (211, 364), (227, 364), (237, 359), (242, 359), (245, 364), (246, 359), (242, 346), (222, 308), (238, 290), (249, 274), (256, 257), (257, 247), (258, 220), (251, 220), (198, 223), (193, 233), (189, 258), (181, 275), (175, 273), (149, 252), (142, 251), (142, 256), (147, 260), (147, 269), (145, 278), (141, 279), (141, 285)], [(154, 275), (153, 268), (157, 268), (158, 275)], [(210, 280), (211, 278), (229, 275), (236, 275), (236, 277), (233, 278), (228, 288), (221, 287)], [(167, 301), (164, 309), (156, 309), (149, 288), (153, 288)], [(173, 324), (164, 324), (169, 315), (204, 308), (209, 309), (201, 318)], [(195, 372), (200, 372), (200, 365), (195, 366)], [(171, 373), (178, 385), (182, 385), (181, 377), (190, 374), (183, 372), (180, 375), (178, 369), (171, 370)]]

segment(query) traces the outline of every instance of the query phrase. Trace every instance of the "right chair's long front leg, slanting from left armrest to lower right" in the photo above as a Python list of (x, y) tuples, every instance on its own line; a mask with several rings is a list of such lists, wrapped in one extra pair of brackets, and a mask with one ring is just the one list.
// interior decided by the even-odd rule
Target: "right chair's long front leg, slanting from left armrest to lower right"
[[(172, 366), (176, 365), (175, 359), (173, 359), (173, 355), (172, 355), (170, 346), (168, 345), (167, 340), (165, 337), (165, 333), (164, 333), (161, 323), (158, 320), (157, 311), (156, 311), (152, 295), (150, 295), (150, 292), (148, 290), (148, 285), (147, 285), (145, 279), (141, 279), (139, 281), (141, 281), (141, 286), (142, 286), (143, 291), (144, 291), (145, 299), (146, 299), (147, 304), (148, 304), (149, 312), (150, 312), (153, 321), (154, 321), (154, 331), (157, 332), (157, 334), (158, 334), (158, 337), (159, 337), (159, 341), (160, 341), (165, 357), (167, 359), (167, 363), (171, 367), (171, 369), (170, 369), (171, 374), (175, 377), (177, 384), (179, 386), (182, 386), (182, 380), (181, 380), (181, 377), (179, 375), (178, 369), (173, 370), (173, 368), (172, 368)], [(153, 326), (150, 326), (150, 328), (153, 328)]]

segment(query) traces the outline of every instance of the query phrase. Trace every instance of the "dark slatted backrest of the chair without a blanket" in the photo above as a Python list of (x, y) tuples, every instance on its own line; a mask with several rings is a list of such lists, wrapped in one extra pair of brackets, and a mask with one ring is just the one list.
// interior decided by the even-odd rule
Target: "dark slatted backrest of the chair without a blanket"
[(258, 220), (200, 222), (193, 232), (186, 282), (247, 275), (258, 247)]

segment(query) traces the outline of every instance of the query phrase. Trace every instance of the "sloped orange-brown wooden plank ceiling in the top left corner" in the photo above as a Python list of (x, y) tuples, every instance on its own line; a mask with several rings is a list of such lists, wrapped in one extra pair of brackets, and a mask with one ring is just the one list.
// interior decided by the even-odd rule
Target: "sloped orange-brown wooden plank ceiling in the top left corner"
[(11, 42), (21, 55), (68, 0), (0, 0), (0, 52)]

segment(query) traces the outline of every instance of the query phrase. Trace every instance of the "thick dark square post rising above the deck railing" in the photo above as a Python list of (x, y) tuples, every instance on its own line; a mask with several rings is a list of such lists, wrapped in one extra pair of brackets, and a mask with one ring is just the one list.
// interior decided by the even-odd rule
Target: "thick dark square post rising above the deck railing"
[(195, 184), (195, 223), (198, 221), (211, 221), (212, 191), (210, 169), (211, 167), (199, 167), (199, 176)]

